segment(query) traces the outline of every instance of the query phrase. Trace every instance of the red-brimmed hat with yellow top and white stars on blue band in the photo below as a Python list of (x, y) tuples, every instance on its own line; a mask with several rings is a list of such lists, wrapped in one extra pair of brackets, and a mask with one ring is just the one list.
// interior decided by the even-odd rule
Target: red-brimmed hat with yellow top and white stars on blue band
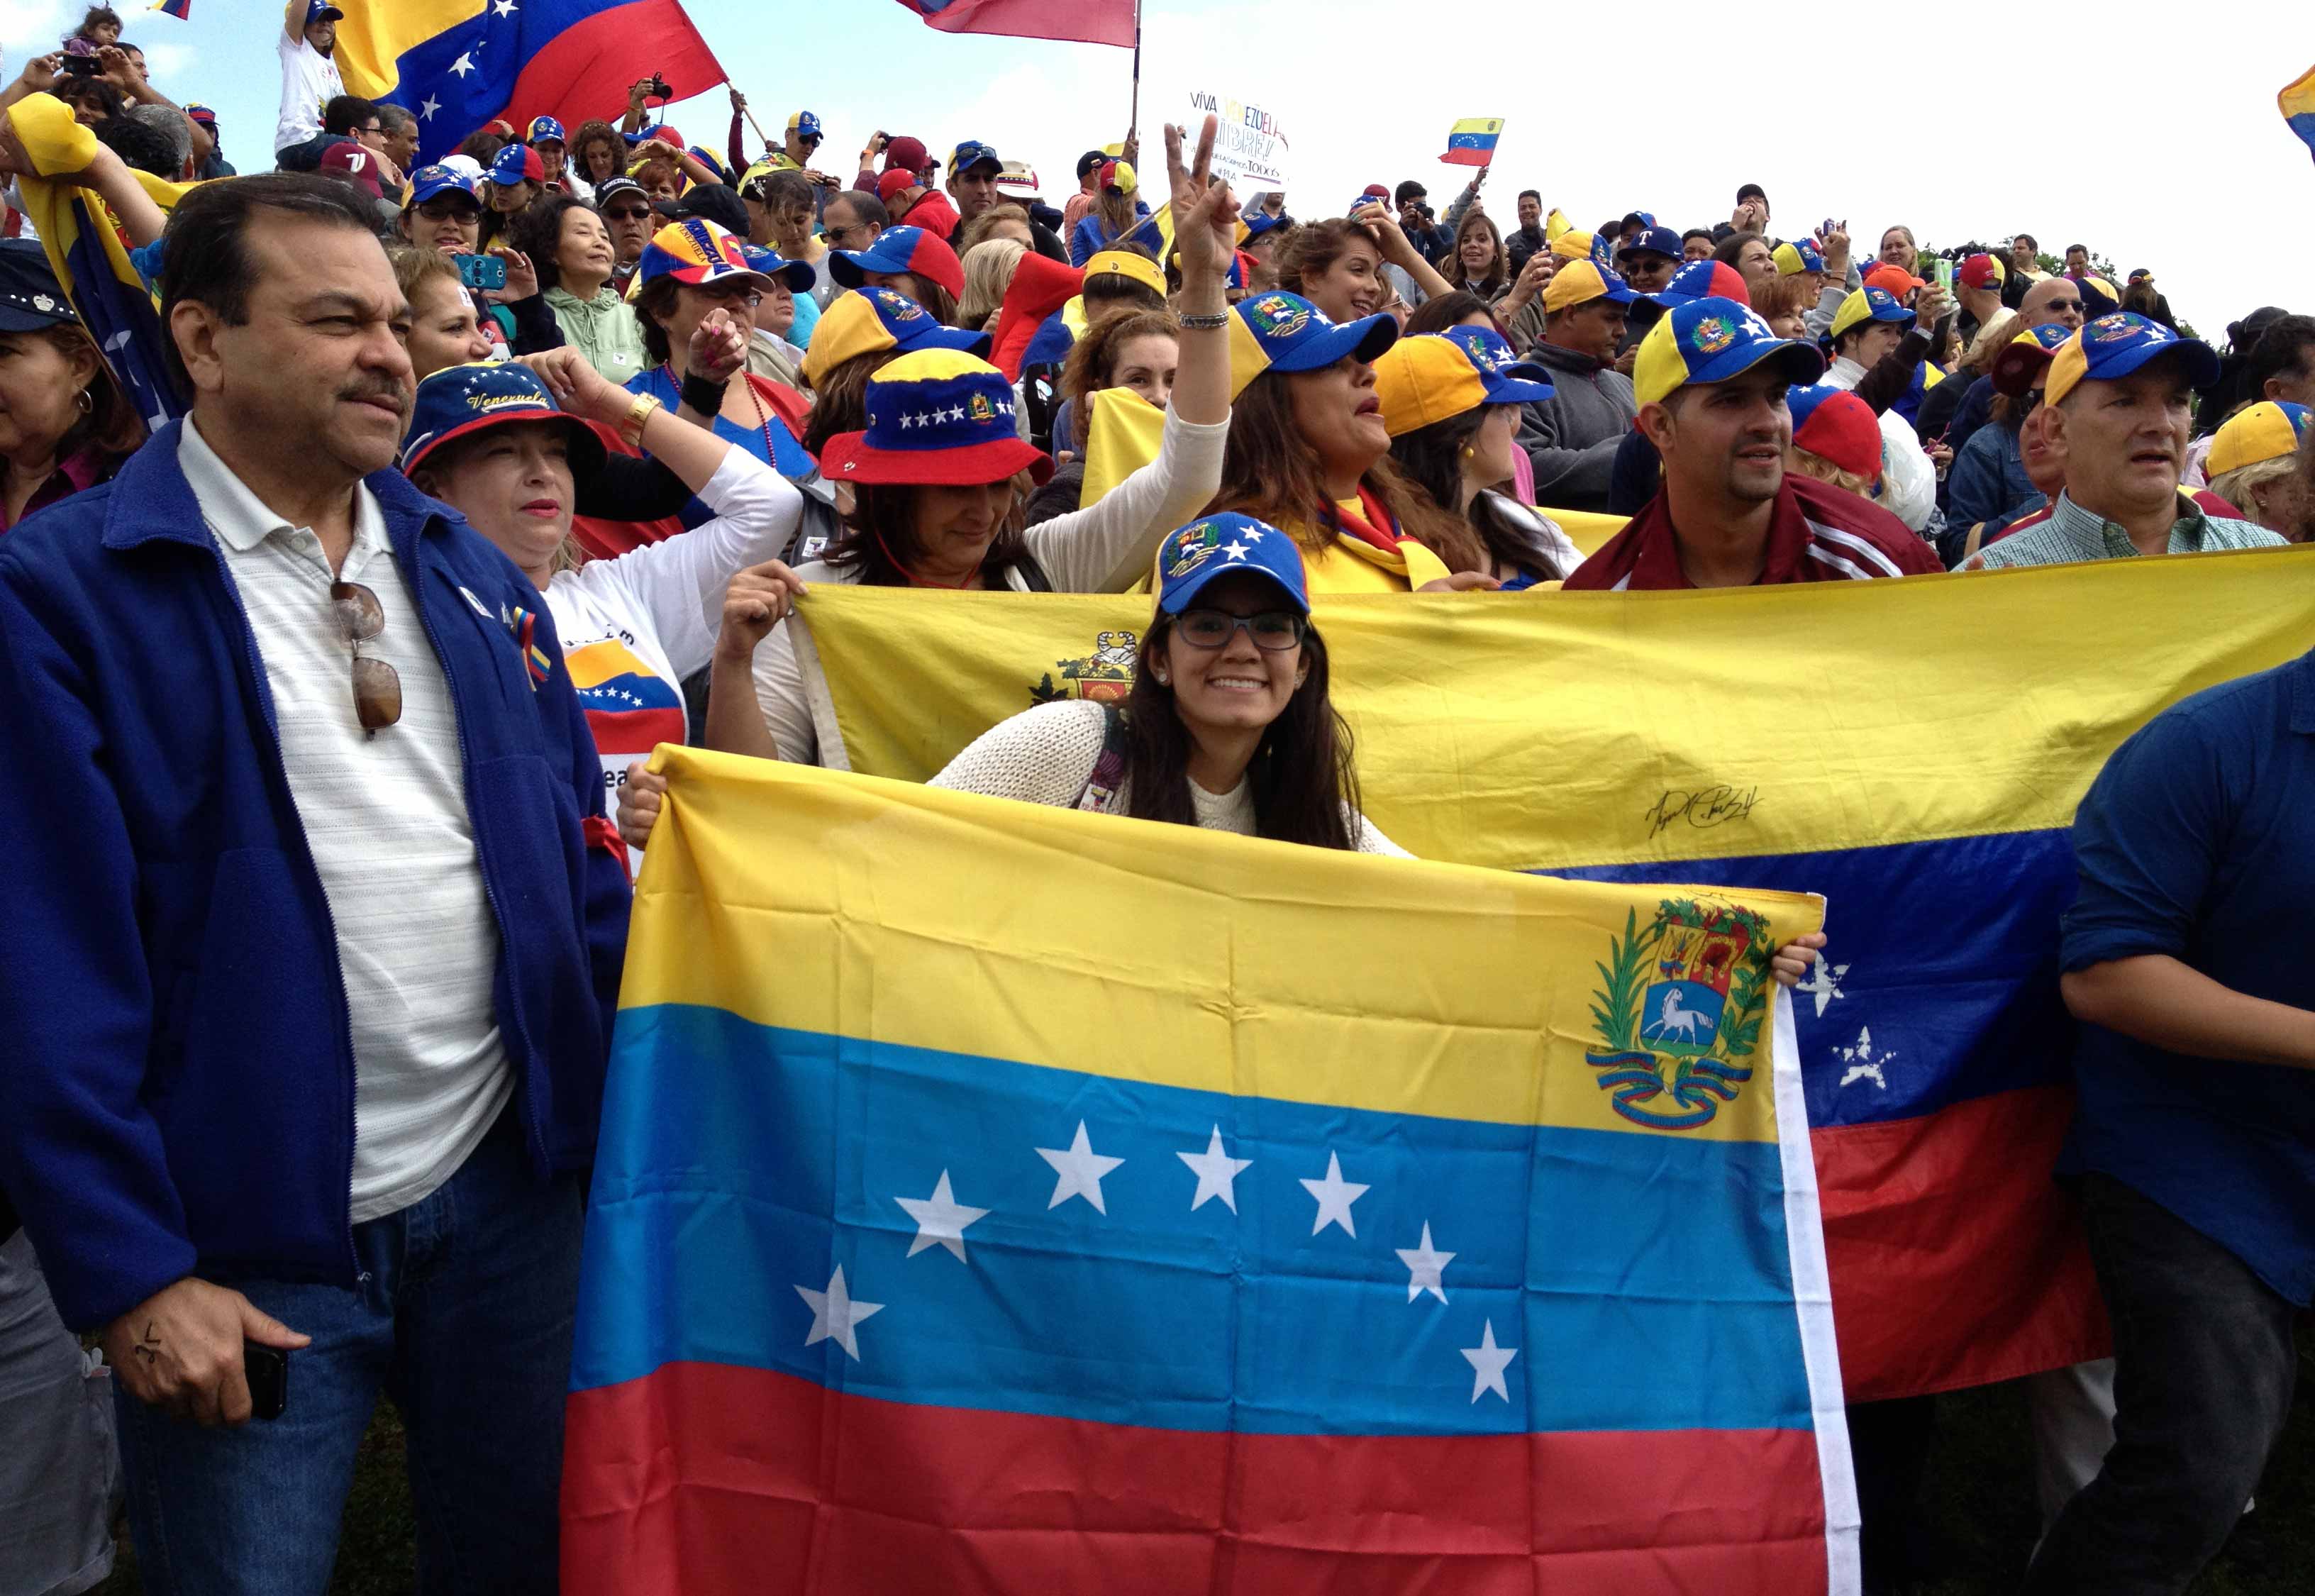
[(1014, 422), (1005, 373), (963, 350), (901, 354), (868, 378), (868, 426), (836, 433), (820, 449), (831, 482), (972, 486), (1030, 473), (1053, 475), (1053, 459)]

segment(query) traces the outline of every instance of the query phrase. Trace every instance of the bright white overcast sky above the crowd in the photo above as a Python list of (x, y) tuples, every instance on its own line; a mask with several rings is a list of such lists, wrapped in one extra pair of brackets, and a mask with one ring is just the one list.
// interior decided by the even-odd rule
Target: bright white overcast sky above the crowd
[[(389, 0), (340, 0), (370, 2)], [(194, 0), (194, 21), (181, 23), (139, 0), (116, 5), (162, 90), (213, 104), (227, 158), (262, 167), (280, 97), (280, 7)], [(875, 127), (917, 134), (935, 155), (986, 139), (1032, 162), (1060, 204), (1076, 155), (1125, 132), (1132, 56), (1120, 49), (951, 37), (894, 0), (688, 9), (773, 134), (799, 107), (820, 114), (826, 169), (847, 164)], [(9, 74), (25, 53), (56, 49), (79, 12), (0, 0)], [(1521, 188), (1537, 188), (1579, 227), (1632, 208), (1671, 227), (1706, 225), (1727, 220), (1736, 185), (1752, 181), (1769, 190), (1778, 234), (1836, 215), (1866, 252), (1889, 222), (1912, 225), (1924, 243), (2019, 227), (2049, 250), (2088, 243), (2123, 271), (2151, 266), (2171, 308), (2220, 343), (2257, 303), (2310, 308), (2315, 160), (2283, 125), (2276, 90), (2315, 60), (2315, 32), (2306, 60), (2285, 60), (2262, 49), (2276, 37), (2264, 7), (2215, 0), (2151, 14), (2144, 28), (2123, 12), (2090, 46), (2095, 58), (2067, 69), (2030, 65), (2030, 44), (1970, 42), (1935, 19), (1852, 7), (1838, 25), (1852, 65), (1838, 67), (1820, 53), (1831, 37), (1799, 14), (1789, 49), (1734, 51), (1727, 16), (1688, 0), (1644, 12), (1146, 0), (1148, 192), (1162, 188), (1158, 123), (1185, 120), (1192, 88), (1276, 111), (1296, 215), (1338, 215), (1366, 183), (1408, 176), (1442, 202), (1463, 181), (1438, 160), (1447, 127), (1502, 116), (1489, 178), (1498, 218)], [(1699, 25), (1681, 30), (1683, 14)], [(1998, 58), (2009, 65), (1986, 65)], [(637, 76), (653, 67), (634, 65)], [(1827, 76), (1808, 81), (1815, 67)], [(676, 104), (671, 120), (720, 151), (729, 109), (718, 90)], [(1924, 125), (1938, 132), (1924, 137)]]

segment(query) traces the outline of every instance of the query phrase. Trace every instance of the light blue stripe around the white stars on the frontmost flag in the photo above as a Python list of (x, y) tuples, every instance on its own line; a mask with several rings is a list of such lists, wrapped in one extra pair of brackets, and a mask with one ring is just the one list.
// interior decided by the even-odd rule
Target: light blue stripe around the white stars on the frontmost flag
[[(674, 1360), (896, 1401), (1259, 1434), (1810, 1425), (1778, 1149), (1227, 1098), (625, 1010), (574, 1390)], [(1588, 1084), (1588, 1082), (1586, 1082)], [(1766, 1068), (1748, 1086), (1769, 1091)], [(632, 1098), (632, 1100), (620, 1100)], [(1086, 1126), (1107, 1211), (1053, 1205)], [(748, 1140), (782, 1126), (782, 1156)], [(1213, 1128), (1252, 1161), (1192, 1209)], [(1329, 1156), (1357, 1235), (1313, 1235)], [(989, 1209), (965, 1260), (898, 1198)], [(829, 1223), (829, 1214), (840, 1218)], [(1398, 1251), (1454, 1253), (1447, 1302)], [(806, 1346), (836, 1265), (850, 1357)], [(1528, 1286), (1535, 1283), (1535, 1286)], [(1519, 1348), (1472, 1401), (1463, 1348)]]

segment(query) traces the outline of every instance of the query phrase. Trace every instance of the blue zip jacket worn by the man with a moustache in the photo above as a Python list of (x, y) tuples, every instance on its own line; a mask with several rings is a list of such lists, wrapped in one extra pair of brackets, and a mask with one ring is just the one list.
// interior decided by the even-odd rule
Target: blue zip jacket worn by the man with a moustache
[[(338, 940), (178, 426), (0, 537), (0, 760), (25, 778), (0, 1186), (74, 1330), (211, 1267), (354, 1283)], [(583, 825), (602, 762), (514, 563), (400, 473), (368, 489), (458, 711), (498, 1026), (544, 1179), (595, 1154), (625, 959), (625, 864)], [(516, 607), (551, 660), (539, 686)]]

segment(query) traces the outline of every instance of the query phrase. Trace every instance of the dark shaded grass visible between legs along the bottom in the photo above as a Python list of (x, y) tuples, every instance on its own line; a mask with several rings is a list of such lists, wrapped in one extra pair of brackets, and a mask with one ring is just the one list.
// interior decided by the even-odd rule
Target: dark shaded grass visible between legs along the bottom
[[(2306, 1323), (2301, 1323), (2306, 1330)], [(2301, 1334), (2299, 1394), (2259, 1510), (2190, 1589), (2192, 1596), (2306, 1596), (2315, 1591), (2315, 1346)], [(2000, 1385), (1938, 1404), (1938, 1441), (1924, 1492), (1924, 1568), (1908, 1596), (2007, 1596), (2035, 1538), (2026, 1404)], [(403, 1427), (380, 1404), (354, 1466), (345, 1543), (331, 1596), (405, 1596), (414, 1584)], [(120, 1568), (100, 1591), (144, 1591), (123, 1538)]]

